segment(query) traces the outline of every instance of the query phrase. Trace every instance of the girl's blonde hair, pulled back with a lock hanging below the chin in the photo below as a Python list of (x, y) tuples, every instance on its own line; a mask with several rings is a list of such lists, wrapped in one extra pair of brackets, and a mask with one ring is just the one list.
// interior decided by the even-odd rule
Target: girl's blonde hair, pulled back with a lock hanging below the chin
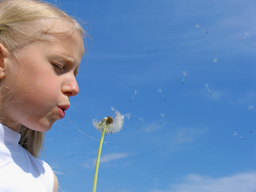
[[(64, 28), (63, 24), (67, 26)], [(58, 25), (60, 29), (56, 29)], [(49, 3), (39, 0), (0, 1), (0, 43), (13, 56), (17, 57), (22, 48), (33, 42), (49, 40), (51, 36), (62, 36), (74, 31), (83, 37), (86, 35), (75, 19)], [(20, 145), (33, 156), (40, 156), (44, 147), (44, 132), (33, 131), (23, 125), (19, 132)]]

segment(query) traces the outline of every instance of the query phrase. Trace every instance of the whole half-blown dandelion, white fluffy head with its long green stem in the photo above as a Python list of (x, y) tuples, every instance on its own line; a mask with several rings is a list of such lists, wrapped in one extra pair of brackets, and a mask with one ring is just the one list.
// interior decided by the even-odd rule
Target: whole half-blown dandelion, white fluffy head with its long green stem
[(95, 166), (95, 175), (94, 175), (94, 181), (93, 181), (93, 192), (96, 192), (97, 187), (97, 178), (98, 178), (98, 171), (99, 171), (99, 161), (100, 161), (100, 154), (102, 149), (102, 143), (104, 139), (104, 135), (107, 133), (115, 133), (119, 132), (124, 124), (124, 116), (119, 112), (116, 111), (114, 108), (111, 108), (111, 110), (115, 111), (115, 118), (113, 119), (111, 116), (102, 118), (101, 121), (93, 120), (93, 126), (98, 129), (99, 131), (102, 131), (101, 138), (100, 138), (100, 145), (98, 150), (98, 156)]

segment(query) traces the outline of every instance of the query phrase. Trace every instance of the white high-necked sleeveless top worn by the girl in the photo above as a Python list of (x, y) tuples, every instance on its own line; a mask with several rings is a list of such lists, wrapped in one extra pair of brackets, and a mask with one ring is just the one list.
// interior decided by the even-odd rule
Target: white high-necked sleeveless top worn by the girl
[(52, 192), (49, 164), (19, 145), (20, 134), (0, 124), (0, 191)]

